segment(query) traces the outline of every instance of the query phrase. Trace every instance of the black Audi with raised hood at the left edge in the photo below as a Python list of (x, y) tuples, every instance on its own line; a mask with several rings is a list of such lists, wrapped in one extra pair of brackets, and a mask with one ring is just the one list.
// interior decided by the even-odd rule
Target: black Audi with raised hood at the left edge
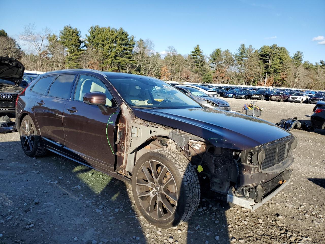
[(16, 59), (0, 56), (0, 113), (15, 112), (16, 98), (28, 86), (22, 81), (24, 70)]

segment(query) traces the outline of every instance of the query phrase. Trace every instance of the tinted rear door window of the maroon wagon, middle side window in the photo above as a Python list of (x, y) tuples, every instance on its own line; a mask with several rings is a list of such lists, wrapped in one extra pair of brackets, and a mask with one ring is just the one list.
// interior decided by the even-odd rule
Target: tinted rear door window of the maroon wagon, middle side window
[(48, 90), (48, 95), (69, 99), (75, 77), (76, 75), (59, 75)]

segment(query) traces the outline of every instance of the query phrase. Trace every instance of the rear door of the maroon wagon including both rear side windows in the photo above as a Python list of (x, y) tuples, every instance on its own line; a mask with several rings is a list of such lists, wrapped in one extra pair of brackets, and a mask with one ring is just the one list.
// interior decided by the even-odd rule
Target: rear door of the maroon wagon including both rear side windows
[(34, 114), (41, 136), (51, 147), (64, 145), (63, 109), (70, 99), (76, 77), (72, 74), (45, 77), (31, 89), (32, 92), (43, 93), (36, 98)]

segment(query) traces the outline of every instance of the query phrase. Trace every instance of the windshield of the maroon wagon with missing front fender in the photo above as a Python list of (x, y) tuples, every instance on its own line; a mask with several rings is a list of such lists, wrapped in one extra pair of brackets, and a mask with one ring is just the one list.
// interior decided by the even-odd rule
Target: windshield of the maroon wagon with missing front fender
[(130, 106), (143, 108), (201, 108), (197, 102), (165, 82), (149, 78), (110, 77)]

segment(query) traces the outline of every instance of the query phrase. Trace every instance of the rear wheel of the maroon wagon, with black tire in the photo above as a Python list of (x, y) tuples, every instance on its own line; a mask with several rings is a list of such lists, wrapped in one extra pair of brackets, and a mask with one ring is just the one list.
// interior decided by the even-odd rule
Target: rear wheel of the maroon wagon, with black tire
[[(26, 139), (26, 134), (25, 134), (26, 123), (27, 124), (30, 123), (32, 125), (32, 129), (33, 129), (32, 133), (28, 132), (28, 135), (27, 135), (28, 139)], [(47, 150), (45, 149), (42, 138), (37, 134), (37, 130), (35, 128), (35, 124), (31, 118), (31, 116), (26, 115), (22, 119), (22, 121), (20, 123), (19, 132), (20, 132), (20, 144), (21, 144), (22, 150), (24, 151), (24, 153), (27, 156), (41, 157), (47, 153)]]

